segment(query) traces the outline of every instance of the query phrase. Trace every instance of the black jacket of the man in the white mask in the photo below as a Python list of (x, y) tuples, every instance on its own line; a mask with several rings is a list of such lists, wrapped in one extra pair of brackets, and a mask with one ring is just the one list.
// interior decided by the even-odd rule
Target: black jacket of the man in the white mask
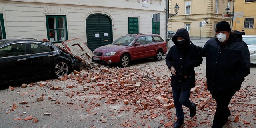
[(206, 42), (200, 52), (206, 57), (209, 91), (240, 90), (244, 77), (250, 74), (250, 54), (242, 38), (231, 33), (226, 44), (222, 45), (214, 37)]

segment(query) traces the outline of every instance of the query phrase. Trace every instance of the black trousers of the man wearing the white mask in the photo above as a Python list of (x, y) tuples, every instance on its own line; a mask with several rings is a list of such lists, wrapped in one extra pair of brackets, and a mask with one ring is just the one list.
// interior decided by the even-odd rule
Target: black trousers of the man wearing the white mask
[(216, 90), (211, 92), (212, 98), (217, 103), (212, 128), (222, 128), (228, 122), (228, 116), (230, 116), (228, 104), (235, 93), (236, 91), (234, 90)]

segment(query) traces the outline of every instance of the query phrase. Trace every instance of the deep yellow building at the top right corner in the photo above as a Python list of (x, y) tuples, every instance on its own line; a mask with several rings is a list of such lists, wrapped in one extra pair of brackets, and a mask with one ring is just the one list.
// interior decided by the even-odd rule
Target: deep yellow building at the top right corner
[(233, 30), (256, 35), (256, 0), (235, 0)]

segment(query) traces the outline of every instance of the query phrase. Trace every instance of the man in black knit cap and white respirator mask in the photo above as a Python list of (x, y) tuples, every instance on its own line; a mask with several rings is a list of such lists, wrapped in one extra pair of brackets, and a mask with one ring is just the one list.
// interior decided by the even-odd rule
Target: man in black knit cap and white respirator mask
[(215, 32), (216, 37), (200, 51), (206, 57), (207, 89), (217, 104), (212, 128), (222, 128), (230, 116), (228, 104), (232, 96), (250, 74), (250, 55), (246, 43), (231, 32), (228, 22), (218, 22)]

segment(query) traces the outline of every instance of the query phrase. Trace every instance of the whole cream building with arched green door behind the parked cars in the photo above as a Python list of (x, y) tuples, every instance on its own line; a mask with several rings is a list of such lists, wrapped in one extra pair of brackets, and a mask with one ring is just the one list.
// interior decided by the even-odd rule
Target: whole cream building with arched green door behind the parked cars
[(94, 50), (128, 33), (165, 39), (166, 24), (166, 0), (0, 0), (0, 39), (81, 38)]

